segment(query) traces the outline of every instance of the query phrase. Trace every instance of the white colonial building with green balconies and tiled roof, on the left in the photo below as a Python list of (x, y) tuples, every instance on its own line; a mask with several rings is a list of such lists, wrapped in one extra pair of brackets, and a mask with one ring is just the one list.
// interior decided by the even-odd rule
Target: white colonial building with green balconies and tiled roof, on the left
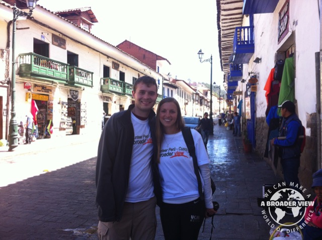
[[(28, 13), (23, 1), (0, 0), (1, 139), (10, 135), (12, 75), (18, 125), (37, 105), (38, 139), (99, 134), (103, 112), (110, 116), (133, 102), (138, 77), (163, 78), (155, 68), (94, 36), (91, 29), (98, 21), (90, 8), (53, 13), (37, 5), (31, 17), (17, 19), (13, 33), (14, 4)], [(157, 102), (162, 87), (158, 95)]]

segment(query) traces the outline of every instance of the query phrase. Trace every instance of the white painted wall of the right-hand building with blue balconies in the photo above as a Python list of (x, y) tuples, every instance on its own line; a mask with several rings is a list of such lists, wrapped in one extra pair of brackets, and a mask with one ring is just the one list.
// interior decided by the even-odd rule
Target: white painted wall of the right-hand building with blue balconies
[[(315, 112), (315, 52), (319, 51), (319, 16), (317, 1), (290, 0), (289, 33), (278, 44), (278, 13), (285, 1), (281, 0), (273, 14), (254, 15), (255, 53), (249, 64), (244, 64), (243, 78), (248, 81), (249, 72), (255, 72), (258, 82), (256, 95), (256, 116), (265, 117), (267, 107), (264, 86), (271, 69), (275, 65), (275, 54), (285, 45), (292, 33), (295, 34), (295, 99), (298, 115), (303, 126), (306, 126), (306, 115)], [(244, 17), (244, 26), (249, 26), (248, 18)], [(253, 63), (262, 58), (259, 64)], [(246, 81), (246, 82), (247, 82)], [(246, 84), (239, 82), (239, 89), (246, 90)], [(310, 129), (306, 129), (310, 136)]]

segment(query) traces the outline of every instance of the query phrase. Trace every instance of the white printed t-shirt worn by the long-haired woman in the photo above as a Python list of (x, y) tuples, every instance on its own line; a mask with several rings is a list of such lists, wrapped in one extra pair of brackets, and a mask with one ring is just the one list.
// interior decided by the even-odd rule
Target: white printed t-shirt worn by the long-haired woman
[[(191, 133), (195, 142), (198, 166), (209, 164), (201, 135), (195, 130)], [(159, 172), (163, 201), (181, 204), (197, 199), (199, 197), (197, 177), (182, 132), (165, 135), (160, 150)], [(201, 182), (203, 185), (202, 177)]]

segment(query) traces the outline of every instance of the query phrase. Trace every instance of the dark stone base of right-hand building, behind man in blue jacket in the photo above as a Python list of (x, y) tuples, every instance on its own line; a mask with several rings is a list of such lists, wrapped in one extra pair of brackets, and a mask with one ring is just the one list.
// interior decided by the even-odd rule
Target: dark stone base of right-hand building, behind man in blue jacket
[[(301, 164), (298, 177), (300, 183), (306, 189), (311, 189), (312, 173), (317, 170), (317, 129), (316, 113), (306, 115), (307, 129), (311, 129), (311, 136), (306, 136), (306, 144), (301, 154)], [(267, 142), (268, 125), (265, 117), (256, 118), (256, 149), (255, 151), (264, 158), (264, 152)], [(268, 158), (264, 158), (268, 164), (271, 164)], [(277, 175), (283, 179), (283, 173), (280, 164), (277, 167)]]

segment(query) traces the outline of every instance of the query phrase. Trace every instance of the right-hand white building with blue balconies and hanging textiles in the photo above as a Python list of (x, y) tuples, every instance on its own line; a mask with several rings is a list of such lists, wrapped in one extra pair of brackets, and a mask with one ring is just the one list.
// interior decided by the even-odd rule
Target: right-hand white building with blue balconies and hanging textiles
[[(217, 1), (225, 87), (235, 107), (243, 100), (243, 127), (253, 150), (282, 176), (280, 163), (268, 154), (273, 126), (268, 125), (267, 117), (284, 100), (294, 101), (306, 130), (299, 178), (308, 188), (312, 172), (321, 168), (318, 4), (301, 0)], [(274, 129), (278, 132), (278, 127)]]

